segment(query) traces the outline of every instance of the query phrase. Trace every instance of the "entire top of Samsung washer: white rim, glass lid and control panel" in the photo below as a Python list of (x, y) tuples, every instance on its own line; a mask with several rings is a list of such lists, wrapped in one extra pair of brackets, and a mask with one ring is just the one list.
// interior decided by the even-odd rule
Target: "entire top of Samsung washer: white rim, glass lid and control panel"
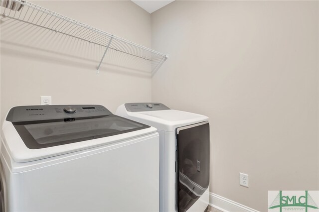
[(150, 128), (104, 106), (17, 106), (8, 112), (2, 131), (12, 158), (25, 162), (156, 131)]

